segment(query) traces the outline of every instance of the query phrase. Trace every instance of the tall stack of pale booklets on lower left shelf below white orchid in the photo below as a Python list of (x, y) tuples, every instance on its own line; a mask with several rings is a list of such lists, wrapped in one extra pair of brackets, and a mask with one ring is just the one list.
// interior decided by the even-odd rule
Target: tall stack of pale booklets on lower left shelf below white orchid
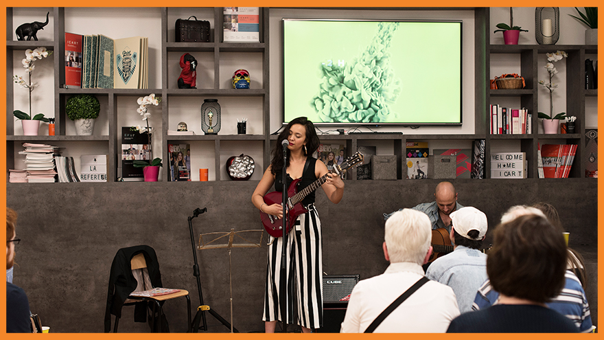
[(54, 157), (58, 156), (58, 147), (47, 144), (23, 143), (25, 150), (25, 170), (29, 183), (54, 183), (57, 174)]

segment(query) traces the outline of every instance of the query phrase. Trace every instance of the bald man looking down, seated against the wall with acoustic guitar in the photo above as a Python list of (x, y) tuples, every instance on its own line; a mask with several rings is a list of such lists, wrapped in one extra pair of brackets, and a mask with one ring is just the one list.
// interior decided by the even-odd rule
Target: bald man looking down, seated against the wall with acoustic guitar
[[(411, 209), (426, 213), (428, 218), (430, 218), (432, 229), (445, 228), (447, 229), (447, 232), (450, 232), (450, 214), (463, 207), (463, 205), (457, 203), (457, 192), (455, 191), (453, 184), (451, 182), (439, 183), (434, 190), (434, 199), (436, 199), (436, 201), (421, 203)], [(399, 209), (399, 211), (400, 210), (402, 209)], [(384, 214), (384, 219), (387, 220), (392, 214), (394, 213)]]

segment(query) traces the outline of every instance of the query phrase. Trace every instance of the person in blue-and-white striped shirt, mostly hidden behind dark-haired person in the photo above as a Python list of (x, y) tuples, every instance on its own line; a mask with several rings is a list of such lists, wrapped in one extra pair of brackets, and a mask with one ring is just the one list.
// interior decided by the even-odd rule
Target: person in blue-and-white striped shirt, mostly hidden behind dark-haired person
[[(535, 214), (548, 218), (544, 212), (536, 207), (526, 207), (523, 205), (516, 205), (511, 207), (507, 213), (501, 218), (501, 223), (507, 223), (514, 218), (519, 216)], [(550, 215), (550, 214), (548, 214)], [(550, 215), (551, 216), (551, 215)], [(548, 218), (550, 220), (550, 218)], [(551, 223), (551, 220), (550, 220)], [(558, 220), (559, 223), (559, 220)], [(555, 223), (552, 225), (558, 229)], [(558, 230), (558, 232), (560, 232)], [(567, 248), (568, 249), (568, 248)], [(570, 258), (572, 253), (567, 253), (567, 260)], [(489, 306), (499, 304), (499, 293), (493, 288), (491, 282), (487, 280), (476, 293), (474, 304), (472, 304), (472, 310), (481, 310)], [(581, 282), (577, 275), (568, 267), (565, 273), (564, 292), (561, 292), (554, 299), (547, 303), (547, 306), (561, 315), (568, 317), (574, 322), (574, 325), (581, 330), (581, 332), (591, 332), (594, 329), (592, 324), (592, 317), (590, 313), (590, 305), (588, 299), (585, 296), (585, 290), (581, 286)]]

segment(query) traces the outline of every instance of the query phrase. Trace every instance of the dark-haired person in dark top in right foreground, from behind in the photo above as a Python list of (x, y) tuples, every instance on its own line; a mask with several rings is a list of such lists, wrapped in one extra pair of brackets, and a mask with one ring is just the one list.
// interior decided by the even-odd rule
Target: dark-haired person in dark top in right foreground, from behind
[(456, 317), (447, 332), (579, 332), (546, 302), (564, 287), (564, 237), (544, 216), (528, 214), (498, 225), (487, 274), (499, 303)]

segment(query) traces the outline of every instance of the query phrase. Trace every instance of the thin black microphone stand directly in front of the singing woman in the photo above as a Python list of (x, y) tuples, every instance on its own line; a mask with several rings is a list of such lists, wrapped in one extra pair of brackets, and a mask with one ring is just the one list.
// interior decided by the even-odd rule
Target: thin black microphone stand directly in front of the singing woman
[(288, 281), (288, 271), (287, 271), (287, 261), (286, 261), (286, 251), (287, 251), (287, 245), (288, 245), (288, 240), (287, 240), (287, 225), (288, 225), (288, 214), (287, 214), (287, 207), (288, 207), (288, 187), (287, 187), (287, 163), (288, 163), (288, 144), (289, 142), (287, 141), (287, 139), (283, 139), (283, 141), (281, 142), (281, 144), (283, 145), (283, 170), (281, 171), (282, 174), (282, 182), (283, 183), (283, 218), (282, 218), (282, 226), (281, 229), (283, 231), (283, 242), (281, 244), (281, 275), (279, 275), (279, 277), (281, 278), (281, 282), (279, 284), (279, 288), (281, 290), (281, 317), (283, 317), (283, 332), (287, 333), (288, 332), (288, 291), (287, 291), (287, 281)]

